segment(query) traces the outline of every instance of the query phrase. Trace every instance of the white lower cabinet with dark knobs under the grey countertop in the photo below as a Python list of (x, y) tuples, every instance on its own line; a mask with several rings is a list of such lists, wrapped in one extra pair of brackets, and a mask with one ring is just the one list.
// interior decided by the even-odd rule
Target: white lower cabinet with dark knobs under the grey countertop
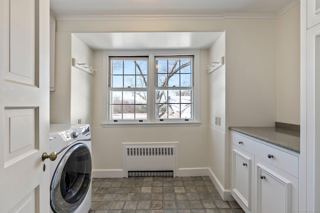
[[(248, 140), (254, 149), (242, 149)], [(234, 132), (231, 141), (231, 195), (243, 211), (297, 212), (298, 154)]]

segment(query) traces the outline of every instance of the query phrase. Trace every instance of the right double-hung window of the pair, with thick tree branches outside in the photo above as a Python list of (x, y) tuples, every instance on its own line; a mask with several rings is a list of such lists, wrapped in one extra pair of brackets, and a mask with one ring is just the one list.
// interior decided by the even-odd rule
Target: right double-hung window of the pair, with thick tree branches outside
[(155, 119), (192, 119), (193, 56), (155, 57)]

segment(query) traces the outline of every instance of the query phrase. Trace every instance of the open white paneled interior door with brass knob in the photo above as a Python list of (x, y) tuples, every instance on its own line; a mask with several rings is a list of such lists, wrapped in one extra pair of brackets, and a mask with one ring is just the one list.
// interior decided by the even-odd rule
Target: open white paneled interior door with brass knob
[(49, 0), (0, 0), (0, 212), (49, 212), (48, 134)]

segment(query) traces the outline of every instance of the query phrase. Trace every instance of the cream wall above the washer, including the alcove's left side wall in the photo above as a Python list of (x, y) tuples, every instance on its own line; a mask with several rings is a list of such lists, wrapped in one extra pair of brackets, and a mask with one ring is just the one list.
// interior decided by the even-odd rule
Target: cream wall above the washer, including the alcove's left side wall
[(55, 35), (55, 91), (50, 92), (50, 123), (91, 123), (92, 76), (71, 66), (74, 57), (93, 63), (93, 51), (70, 32)]

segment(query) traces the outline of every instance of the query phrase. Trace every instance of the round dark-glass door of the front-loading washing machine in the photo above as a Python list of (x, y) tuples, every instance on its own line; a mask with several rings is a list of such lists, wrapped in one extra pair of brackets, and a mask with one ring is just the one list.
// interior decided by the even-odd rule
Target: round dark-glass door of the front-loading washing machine
[(63, 155), (52, 177), (50, 205), (55, 213), (71, 213), (82, 203), (91, 179), (91, 155), (84, 144)]

